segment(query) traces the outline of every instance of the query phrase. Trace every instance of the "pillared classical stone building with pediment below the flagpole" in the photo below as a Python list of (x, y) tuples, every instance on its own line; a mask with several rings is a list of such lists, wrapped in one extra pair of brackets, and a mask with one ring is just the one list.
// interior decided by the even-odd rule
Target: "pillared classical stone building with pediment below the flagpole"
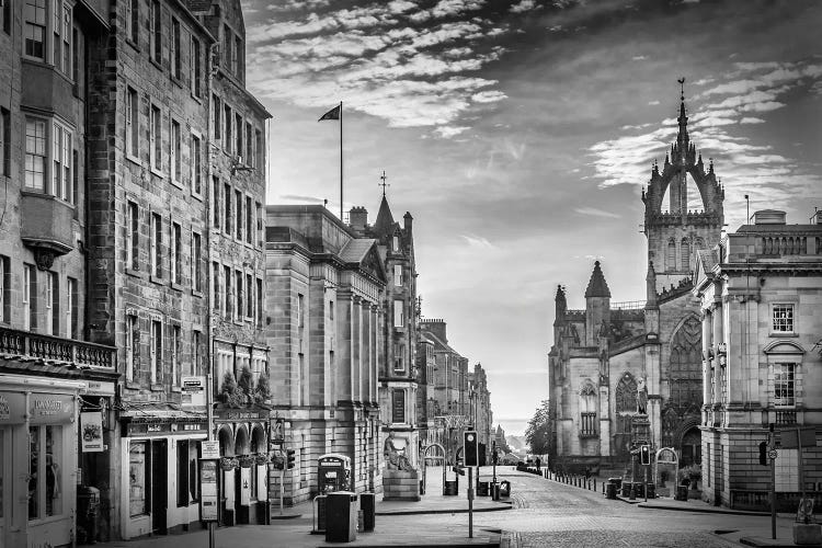
[[(272, 413), (285, 419), (285, 445), (297, 452), (286, 502), (321, 492), (317, 463), (331, 453), (351, 459), (352, 490), (379, 491), (387, 276), (377, 241), (322, 206), (269, 206), (265, 241)], [(278, 495), (278, 473), (271, 486)]]

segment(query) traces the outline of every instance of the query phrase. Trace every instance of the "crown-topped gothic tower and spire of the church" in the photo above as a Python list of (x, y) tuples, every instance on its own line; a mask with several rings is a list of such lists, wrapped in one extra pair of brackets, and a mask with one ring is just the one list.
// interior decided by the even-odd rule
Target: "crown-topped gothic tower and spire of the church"
[[(644, 233), (648, 238), (648, 261), (653, 263), (657, 293), (670, 286), (677, 287), (690, 278), (696, 264), (696, 250), (706, 249), (719, 241), (724, 222), (722, 201), (724, 190), (713, 172), (710, 160), (706, 171), (701, 153), (688, 137), (688, 116), (685, 112), (685, 92), (680, 96), (680, 130), (676, 142), (665, 155), (665, 164), (660, 171), (654, 162), (648, 190), (642, 190), (646, 204)], [(698, 192), (701, 210), (688, 209), (688, 192)], [(665, 191), (669, 194), (667, 210), (663, 212)], [(650, 269), (649, 264), (649, 269)], [(649, 287), (649, 294), (651, 288)], [(648, 298), (655, 298), (649, 295)]]

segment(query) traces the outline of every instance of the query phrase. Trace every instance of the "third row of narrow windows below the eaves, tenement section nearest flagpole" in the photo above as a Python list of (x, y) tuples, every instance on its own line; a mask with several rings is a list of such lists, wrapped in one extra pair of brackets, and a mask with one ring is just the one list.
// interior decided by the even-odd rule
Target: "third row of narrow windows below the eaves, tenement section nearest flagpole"
[(217, 261), (212, 263), (212, 306), (226, 320), (263, 321), (263, 279)]

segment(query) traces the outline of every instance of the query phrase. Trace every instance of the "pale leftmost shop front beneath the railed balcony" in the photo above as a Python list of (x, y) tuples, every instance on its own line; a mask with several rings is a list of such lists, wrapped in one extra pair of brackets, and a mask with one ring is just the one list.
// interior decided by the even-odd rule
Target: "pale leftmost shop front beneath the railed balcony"
[(71, 546), (84, 388), (73, 380), (0, 375), (0, 548)]

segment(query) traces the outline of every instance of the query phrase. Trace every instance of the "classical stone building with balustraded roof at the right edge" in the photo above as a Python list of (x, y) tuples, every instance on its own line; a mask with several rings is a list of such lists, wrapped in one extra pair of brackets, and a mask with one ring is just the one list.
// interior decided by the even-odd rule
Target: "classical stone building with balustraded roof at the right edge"
[[(703, 499), (733, 509), (769, 507), (770, 467), (760, 443), (775, 425), (776, 498), (795, 511), (818, 493), (822, 449), (785, 445), (797, 429), (819, 445), (822, 424), (822, 214), (787, 225), (762, 210), (699, 252), (693, 293), (703, 312)], [(810, 445), (806, 442), (806, 445)], [(799, 459), (803, 477), (799, 477)]]

